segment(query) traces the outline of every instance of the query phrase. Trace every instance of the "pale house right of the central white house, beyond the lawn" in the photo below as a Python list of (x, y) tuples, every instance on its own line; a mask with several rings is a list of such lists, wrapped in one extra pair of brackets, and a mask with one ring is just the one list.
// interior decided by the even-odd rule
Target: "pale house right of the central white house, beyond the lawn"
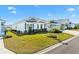
[(59, 20), (54, 20), (54, 22), (50, 23), (51, 28), (57, 28), (61, 29), (61, 26), (63, 26), (63, 29), (66, 29), (69, 27), (69, 19), (59, 19)]

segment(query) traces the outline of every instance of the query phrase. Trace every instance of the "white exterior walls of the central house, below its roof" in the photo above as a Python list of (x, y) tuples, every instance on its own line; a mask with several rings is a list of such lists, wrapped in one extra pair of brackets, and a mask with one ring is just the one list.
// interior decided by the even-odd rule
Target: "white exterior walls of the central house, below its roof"
[[(21, 22), (21, 23), (12, 25), (12, 29), (22, 31), (24, 33), (25, 30), (28, 32), (30, 26), (32, 27), (32, 29), (41, 29), (41, 24), (42, 24), (42, 29), (46, 28), (45, 23)], [(39, 28), (37, 26), (39, 26)]]

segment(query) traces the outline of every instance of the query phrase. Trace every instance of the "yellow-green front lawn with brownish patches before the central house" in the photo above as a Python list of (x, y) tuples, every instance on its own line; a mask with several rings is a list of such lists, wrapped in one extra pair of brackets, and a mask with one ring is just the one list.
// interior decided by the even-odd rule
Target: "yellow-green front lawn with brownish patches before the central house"
[[(73, 37), (66, 33), (52, 34), (57, 35), (61, 41)], [(17, 36), (12, 32), (7, 32), (7, 35), (11, 35), (12, 38), (4, 39), (5, 47), (17, 54), (31, 54), (58, 43), (57, 40), (47, 37), (48, 33)]]

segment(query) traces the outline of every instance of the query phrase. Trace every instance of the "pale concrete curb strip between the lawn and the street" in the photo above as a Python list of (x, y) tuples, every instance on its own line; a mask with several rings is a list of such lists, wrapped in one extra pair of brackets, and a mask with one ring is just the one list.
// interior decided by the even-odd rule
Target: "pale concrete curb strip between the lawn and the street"
[(76, 35), (76, 36), (74, 36), (74, 37), (72, 37), (72, 38), (70, 38), (70, 39), (67, 39), (67, 40), (65, 40), (65, 41), (62, 41), (61, 43), (57, 43), (57, 44), (52, 45), (52, 46), (50, 46), (50, 47), (48, 47), (48, 48), (45, 48), (45, 49), (43, 49), (43, 50), (41, 50), (41, 51), (38, 51), (38, 52), (36, 52), (36, 53), (34, 53), (34, 54), (44, 54), (44, 53), (46, 53), (46, 52), (48, 52), (48, 51), (50, 51), (50, 50), (52, 50), (52, 49), (55, 49), (55, 48), (61, 46), (62, 43), (67, 43), (67, 42), (69, 42), (69, 41), (71, 41), (71, 40), (73, 40), (74, 38), (77, 38), (77, 37), (78, 37), (78, 35)]

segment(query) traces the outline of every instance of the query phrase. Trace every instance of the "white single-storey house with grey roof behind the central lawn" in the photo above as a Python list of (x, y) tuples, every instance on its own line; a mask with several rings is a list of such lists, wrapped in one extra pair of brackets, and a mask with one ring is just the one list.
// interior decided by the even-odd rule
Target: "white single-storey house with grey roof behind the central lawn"
[(47, 28), (46, 24), (47, 24), (46, 21), (41, 20), (40, 18), (28, 17), (25, 20), (22, 20), (22, 21), (19, 21), (19, 22), (16, 22), (15, 24), (13, 24), (12, 29), (21, 31), (22, 33), (24, 33), (25, 31), (28, 32), (30, 28), (32, 30), (46, 29)]

